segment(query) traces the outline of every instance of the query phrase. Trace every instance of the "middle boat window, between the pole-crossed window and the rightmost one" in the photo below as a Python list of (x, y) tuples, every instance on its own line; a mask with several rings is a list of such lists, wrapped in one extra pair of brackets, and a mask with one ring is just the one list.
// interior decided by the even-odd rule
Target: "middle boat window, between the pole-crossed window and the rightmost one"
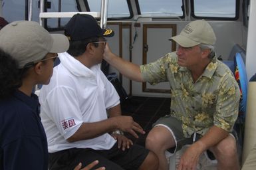
[(180, 0), (138, 0), (138, 14), (150, 17), (182, 17), (184, 12)]

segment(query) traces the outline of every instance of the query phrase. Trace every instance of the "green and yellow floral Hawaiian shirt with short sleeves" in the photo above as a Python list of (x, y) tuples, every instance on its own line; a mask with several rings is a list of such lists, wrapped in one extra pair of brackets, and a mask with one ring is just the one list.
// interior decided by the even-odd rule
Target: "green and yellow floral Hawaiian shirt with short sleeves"
[(178, 65), (176, 52), (140, 66), (144, 81), (170, 82), (171, 116), (182, 121), (184, 137), (204, 135), (213, 125), (231, 131), (238, 116), (240, 91), (233, 73), (213, 57), (203, 74), (193, 82), (186, 67)]

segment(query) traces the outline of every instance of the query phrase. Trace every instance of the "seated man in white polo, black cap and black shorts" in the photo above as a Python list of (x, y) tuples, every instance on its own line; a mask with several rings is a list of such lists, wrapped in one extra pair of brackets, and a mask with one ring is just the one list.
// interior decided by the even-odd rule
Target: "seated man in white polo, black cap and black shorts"
[(98, 67), (104, 37), (114, 32), (100, 29), (90, 15), (76, 14), (64, 34), (70, 48), (59, 54), (61, 64), (39, 96), (49, 169), (72, 169), (79, 162), (87, 165), (94, 160), (106, 169), (158, 169), (156, 155), (133, 145), (122, 133), (138, 137), (144, 131), (132, 117), (121, 116), (119, 96)]

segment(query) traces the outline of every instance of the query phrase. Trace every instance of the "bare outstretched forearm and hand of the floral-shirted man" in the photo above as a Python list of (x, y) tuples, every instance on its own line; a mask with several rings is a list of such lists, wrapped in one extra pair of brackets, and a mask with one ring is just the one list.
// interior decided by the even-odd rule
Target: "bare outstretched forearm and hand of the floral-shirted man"
[(116, 56), (116, 54), (112, 53), (108, 44), (106, 44), (104, 51), (104, 60), (114, 66), (114, 68), (127, 78), (136, 82), (143, 82), (140, 66)]

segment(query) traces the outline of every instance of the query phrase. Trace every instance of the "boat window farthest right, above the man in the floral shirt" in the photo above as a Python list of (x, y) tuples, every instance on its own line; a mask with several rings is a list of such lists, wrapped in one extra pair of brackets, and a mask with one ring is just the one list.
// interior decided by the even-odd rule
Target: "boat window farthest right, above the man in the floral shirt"
[(193, 0), (192, 16), (195, 18), (237, 19), (237, 0)]

